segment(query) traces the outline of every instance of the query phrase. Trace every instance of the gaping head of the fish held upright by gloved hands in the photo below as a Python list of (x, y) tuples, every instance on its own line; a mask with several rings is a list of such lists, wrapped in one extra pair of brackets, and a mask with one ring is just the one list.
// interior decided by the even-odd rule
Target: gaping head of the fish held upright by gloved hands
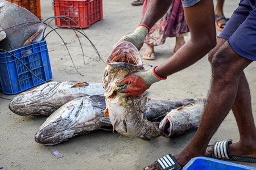
[(106, 68), (102, 78), (102, 86), (105, 88), (104, 96), (109, 97), (115, 93), (116, 82), (127, 74), (144, 70), (139, 50), (127, 41), (115, 45), (106, 59)]

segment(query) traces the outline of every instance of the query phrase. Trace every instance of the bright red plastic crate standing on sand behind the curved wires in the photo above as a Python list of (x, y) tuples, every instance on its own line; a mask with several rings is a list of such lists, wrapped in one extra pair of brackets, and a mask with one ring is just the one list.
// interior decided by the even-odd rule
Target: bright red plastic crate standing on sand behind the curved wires
[[(86, 28), (103, 18), (102, 0), (54, 0), (54, 15), (67, 16), (71, 19), (56, 18), (57, 27)], [(70, 25), (69, 25), (70, 24)]]

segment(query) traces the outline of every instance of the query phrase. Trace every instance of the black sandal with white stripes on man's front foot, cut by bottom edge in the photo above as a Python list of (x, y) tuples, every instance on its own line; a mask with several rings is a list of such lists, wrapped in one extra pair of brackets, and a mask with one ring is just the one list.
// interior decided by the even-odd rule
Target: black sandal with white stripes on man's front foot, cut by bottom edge
[[(159, 168), (161, 170), (179, 170), (180, 169), (180, 165), (176, 162), (176, 160), (174, 159), (174, 157), (171, 154), (168, 154), (166, 156), (164, 156), (163, 158), (160, 158), (158, 160), (156, 160), (155, 162), (156, 164), (158, 164)], [(151, 169), (151, 168), (155, 168), (155, 167), (146, 167), (144, 169)]]

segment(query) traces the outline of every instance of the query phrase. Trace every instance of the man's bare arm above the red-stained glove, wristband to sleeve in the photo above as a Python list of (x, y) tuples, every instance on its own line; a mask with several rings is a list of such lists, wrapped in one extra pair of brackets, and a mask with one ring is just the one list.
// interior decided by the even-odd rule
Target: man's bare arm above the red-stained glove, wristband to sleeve
[(174, 56), (156, 67), (155, 73), (162, 78), (193, 65), (216, 46), (213, 1), (201, 0), (184, 8), (184, 15), (191, 39)]

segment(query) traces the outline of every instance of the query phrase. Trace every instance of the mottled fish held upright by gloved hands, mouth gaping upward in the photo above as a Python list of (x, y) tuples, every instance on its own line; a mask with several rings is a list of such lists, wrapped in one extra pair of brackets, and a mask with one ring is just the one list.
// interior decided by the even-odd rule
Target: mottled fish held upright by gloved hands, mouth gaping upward
[(138, 137), (145, 140), (158, 137), (160, 129), (158, 122), (150, 122), (143, 114), (147, 97), (138, 96), (135, 99), (121, 97), (116, 92), (116, 82), (127, 74), (144, 70), (138, 49), (130, 42), (117, 44), (106, 59), (105, 74), (102, 85), (105, 88), (106, 110), (113, 130), (126, 137)]

